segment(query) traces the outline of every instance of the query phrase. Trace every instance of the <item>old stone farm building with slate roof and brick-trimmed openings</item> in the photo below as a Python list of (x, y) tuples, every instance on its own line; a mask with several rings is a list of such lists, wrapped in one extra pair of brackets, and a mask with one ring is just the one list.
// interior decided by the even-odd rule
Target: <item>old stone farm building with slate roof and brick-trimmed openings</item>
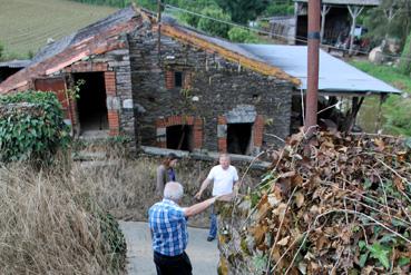
[(234, 43), (167, 18), (158, 30), (130, 7), (48, 45), (0, 92), (57, 92), (74, 135), (256, 155), (277, 141), (265, 134), (288, 135), (296, 84)]

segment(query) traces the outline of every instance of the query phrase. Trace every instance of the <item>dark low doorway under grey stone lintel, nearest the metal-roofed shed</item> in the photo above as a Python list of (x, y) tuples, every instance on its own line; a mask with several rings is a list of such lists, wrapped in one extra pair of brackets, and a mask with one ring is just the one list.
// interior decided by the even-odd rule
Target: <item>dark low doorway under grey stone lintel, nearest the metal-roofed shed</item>
[(247, 155), (253, 124), (227, 124), (227, 151)]

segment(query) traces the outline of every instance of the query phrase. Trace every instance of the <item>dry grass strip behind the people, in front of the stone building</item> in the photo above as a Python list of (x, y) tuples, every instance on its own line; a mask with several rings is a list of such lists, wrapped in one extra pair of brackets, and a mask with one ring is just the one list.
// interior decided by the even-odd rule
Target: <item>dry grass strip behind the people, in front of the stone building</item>
[[(160, 200), (156, 194), (156, 169), (162, 163), (159, 157), (139, 156), (137, 159), (127, 158), (120, 148), (107, 146), (105, 149), (109, 159), (104, 166), (76, 164), (72, 167), (72, 178), (88, 187), (89, 196), (95, 197), (98, 204), (119, 219), (146, 220), (148, 208)], [(92, 151), (94, 148), (87, 148)], [(202, 181), (206, 178), (211, 167), (216, 163), (180, 159), (176, 167), (176, 178), (184, 186), (185, 196), (182, 205), (188, 206), (198, 203), (194, 195), (198, 191)], [(245, 166), (238, 166), (239, 175)], [(247, 175), (243, 190), (253, 186), (258, 179)], [(207, 188), (204, 198), (211, 196), (212, 186)], [(193, 226), (207, 226), (208, 213), (190, 218)]]

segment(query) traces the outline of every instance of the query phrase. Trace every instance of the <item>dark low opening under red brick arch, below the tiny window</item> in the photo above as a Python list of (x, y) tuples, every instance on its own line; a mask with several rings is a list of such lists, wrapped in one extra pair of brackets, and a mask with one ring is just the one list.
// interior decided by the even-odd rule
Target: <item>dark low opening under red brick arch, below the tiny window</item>
[(167, 127), (167, 148), (177, 150), (193, 150), (193, 126), (176, 125)]

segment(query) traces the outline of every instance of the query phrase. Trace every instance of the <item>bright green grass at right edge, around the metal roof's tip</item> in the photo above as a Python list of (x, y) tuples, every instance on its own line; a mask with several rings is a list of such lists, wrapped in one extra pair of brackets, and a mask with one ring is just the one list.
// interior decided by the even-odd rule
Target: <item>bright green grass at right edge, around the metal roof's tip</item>
[[(392, 95), (382, 105), (382, 114), (385, 117), (385, 124), (383, 126), (384, 131), (393, 135), (411, 136), (411, 79), (405, 75), (400, 73), (397, 69), (389, 66), (375, 66), (366, 61), (353, 61), (356, 68), (382, 79), (408, 96), (402, 97)], [(375, 99), (373, 105), (378, 105)]]

